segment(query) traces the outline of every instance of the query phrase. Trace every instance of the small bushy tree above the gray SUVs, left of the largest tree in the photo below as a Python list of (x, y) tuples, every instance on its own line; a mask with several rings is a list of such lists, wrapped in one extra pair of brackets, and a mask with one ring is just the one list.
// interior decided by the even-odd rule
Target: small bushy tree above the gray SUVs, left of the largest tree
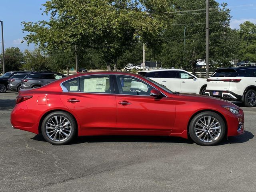
[(39, 49), (34, 51), (25, 50), (22, 69), (32, 71), (52, 70), (49, 65), (49, 58), (44, 56)]

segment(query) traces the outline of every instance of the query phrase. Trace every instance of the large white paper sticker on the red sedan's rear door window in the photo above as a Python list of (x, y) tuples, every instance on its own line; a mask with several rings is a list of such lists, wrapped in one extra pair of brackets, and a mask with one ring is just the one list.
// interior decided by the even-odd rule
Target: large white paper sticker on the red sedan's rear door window
[(84, 92), (106, 92), (106, 79), (85, 79)]

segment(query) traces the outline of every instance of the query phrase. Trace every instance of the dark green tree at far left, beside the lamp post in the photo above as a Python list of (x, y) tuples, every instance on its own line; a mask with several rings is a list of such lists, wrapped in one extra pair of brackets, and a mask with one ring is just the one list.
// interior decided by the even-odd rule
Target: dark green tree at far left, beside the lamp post
[[(2, 54), (0, 55), (2, 59)], [(18, 47), (6, 48), (4, 51), (5, 71), (18, 71), (24, 62), (24, 55)], [(2, 71), (2, 64), (0, 65)]]

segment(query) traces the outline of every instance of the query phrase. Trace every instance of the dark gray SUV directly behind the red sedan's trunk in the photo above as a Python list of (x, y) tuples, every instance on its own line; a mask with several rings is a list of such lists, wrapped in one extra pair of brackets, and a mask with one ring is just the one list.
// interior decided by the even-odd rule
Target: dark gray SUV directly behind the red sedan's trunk
[(29, 89), (41, 87), (63, 77), (65, 76), (56, 72), (40, 72), (28, 74), (22, 79), (21, 88)]

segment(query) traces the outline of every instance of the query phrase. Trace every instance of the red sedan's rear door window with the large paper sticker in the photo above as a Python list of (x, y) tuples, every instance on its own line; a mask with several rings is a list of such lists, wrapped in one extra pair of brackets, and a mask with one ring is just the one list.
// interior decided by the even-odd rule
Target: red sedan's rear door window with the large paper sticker
[(109, 75), (93, 75), (80, 77), (80, 92), (111, 93)]

